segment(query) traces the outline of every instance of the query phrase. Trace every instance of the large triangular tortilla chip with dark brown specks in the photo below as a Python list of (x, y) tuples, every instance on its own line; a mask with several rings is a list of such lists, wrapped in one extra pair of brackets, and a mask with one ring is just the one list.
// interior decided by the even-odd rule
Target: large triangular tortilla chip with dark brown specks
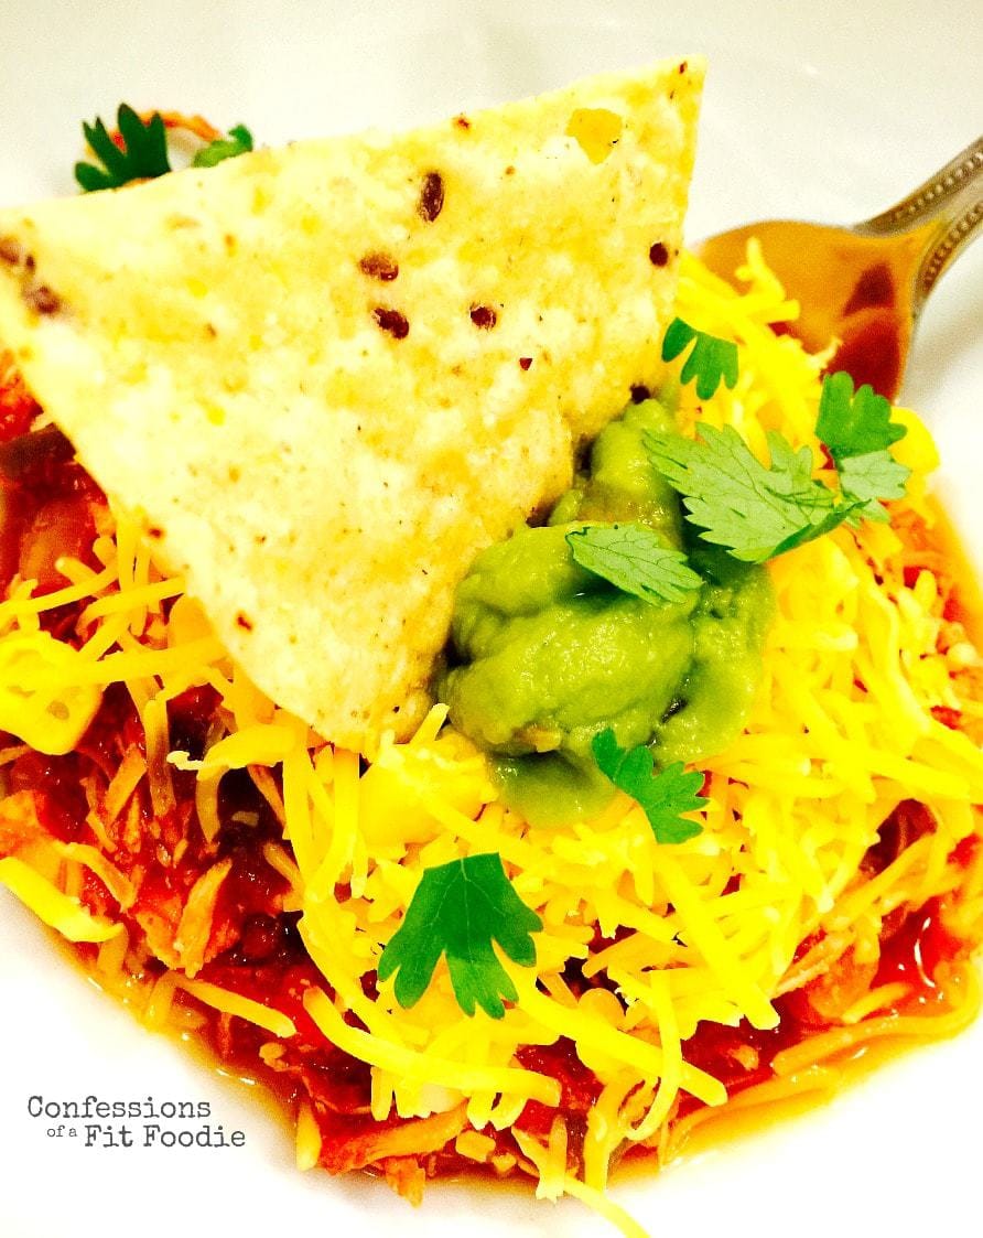
[(229, 651), (412, 729), (454, 586), (650, 380), (702, 64), (0, 213), (0, 340)]

